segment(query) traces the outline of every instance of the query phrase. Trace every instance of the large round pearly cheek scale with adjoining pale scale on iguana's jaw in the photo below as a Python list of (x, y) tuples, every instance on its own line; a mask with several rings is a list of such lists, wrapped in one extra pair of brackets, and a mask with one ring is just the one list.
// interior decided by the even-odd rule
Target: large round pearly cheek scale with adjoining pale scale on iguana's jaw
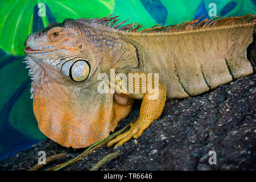
[(90, 73), (90, 65), (85, 60), (77, 60), (75, 63), (67, 61), (63, 64), (61, 72), (73, 81), (84, 81)]

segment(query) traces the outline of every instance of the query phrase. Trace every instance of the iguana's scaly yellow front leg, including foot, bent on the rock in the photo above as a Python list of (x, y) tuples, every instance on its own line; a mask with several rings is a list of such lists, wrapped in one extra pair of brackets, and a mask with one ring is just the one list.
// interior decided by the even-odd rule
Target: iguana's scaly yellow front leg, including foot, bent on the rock
[[(132, 74), (133, 73), (144, 74), (146, 78), (148, 78), (147, 73), (132, 72)], [(143, 76), (142, 76), (142, 79), (143, 79)], [(129, 74), (128, 74), (128, 80), (129, 81), (127, 81), (127, 85), (129, 86), (129, 83), (133, 84), (134, 86), (133, 91), (136, 91), (136, 90), (141, 91), (143, 90), (143, 86), (148, 87), (148, 81), (143, 83), (142, 80), (139, 80), (139, 84), (135, 84), (134, 80), (131, 81)], [(141, 109), (139, 111), (139, 118), (137, 119), (137, 121), (135, 121), (130, 125), (130, 129), (128, 131), (119, 135), (117, 138), (111, 140), (108, 143), (109, 147), (113, 146), (113, 144), (115, 143), (117, 143), (115, 144), (115, 146), (121, 146), (131, 138), (141, 137), (143, 131), (150, 126), (151, 122), (160, 117), (164, 108), (164, 104), (166, 102), (167, 90), (166, 90), (166, 86), (162, 82), (158, 81), (158, 83), (159, 84), (156, 86), (156, 88), (153, 89), (154, 92), (152, 92), (152, 90), (147, 89), (146, 93), (130, 93), (129, 94), (133, 98), (137, 98), (137, 99), (140, 97), (143, 98)], [(152, 80), (152, 85), (154, 85), (154, 79)], [(127, 94), (127, 90), (123, 92)]]

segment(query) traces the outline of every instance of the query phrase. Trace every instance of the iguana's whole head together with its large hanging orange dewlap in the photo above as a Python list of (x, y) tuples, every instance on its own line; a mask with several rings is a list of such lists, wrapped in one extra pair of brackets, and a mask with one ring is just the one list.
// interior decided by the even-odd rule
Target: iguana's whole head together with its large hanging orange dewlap
[(98, 74), (117, 60), (108, 57), (113, 48), (108, 53), (98, 48), (93, 26), (65, 19), (29, 35), (24, 44), (39, 129), (65, 147), (87, 147), (107, 137), (131, 109), (117, 104), (113, 93), (97, 91)]

